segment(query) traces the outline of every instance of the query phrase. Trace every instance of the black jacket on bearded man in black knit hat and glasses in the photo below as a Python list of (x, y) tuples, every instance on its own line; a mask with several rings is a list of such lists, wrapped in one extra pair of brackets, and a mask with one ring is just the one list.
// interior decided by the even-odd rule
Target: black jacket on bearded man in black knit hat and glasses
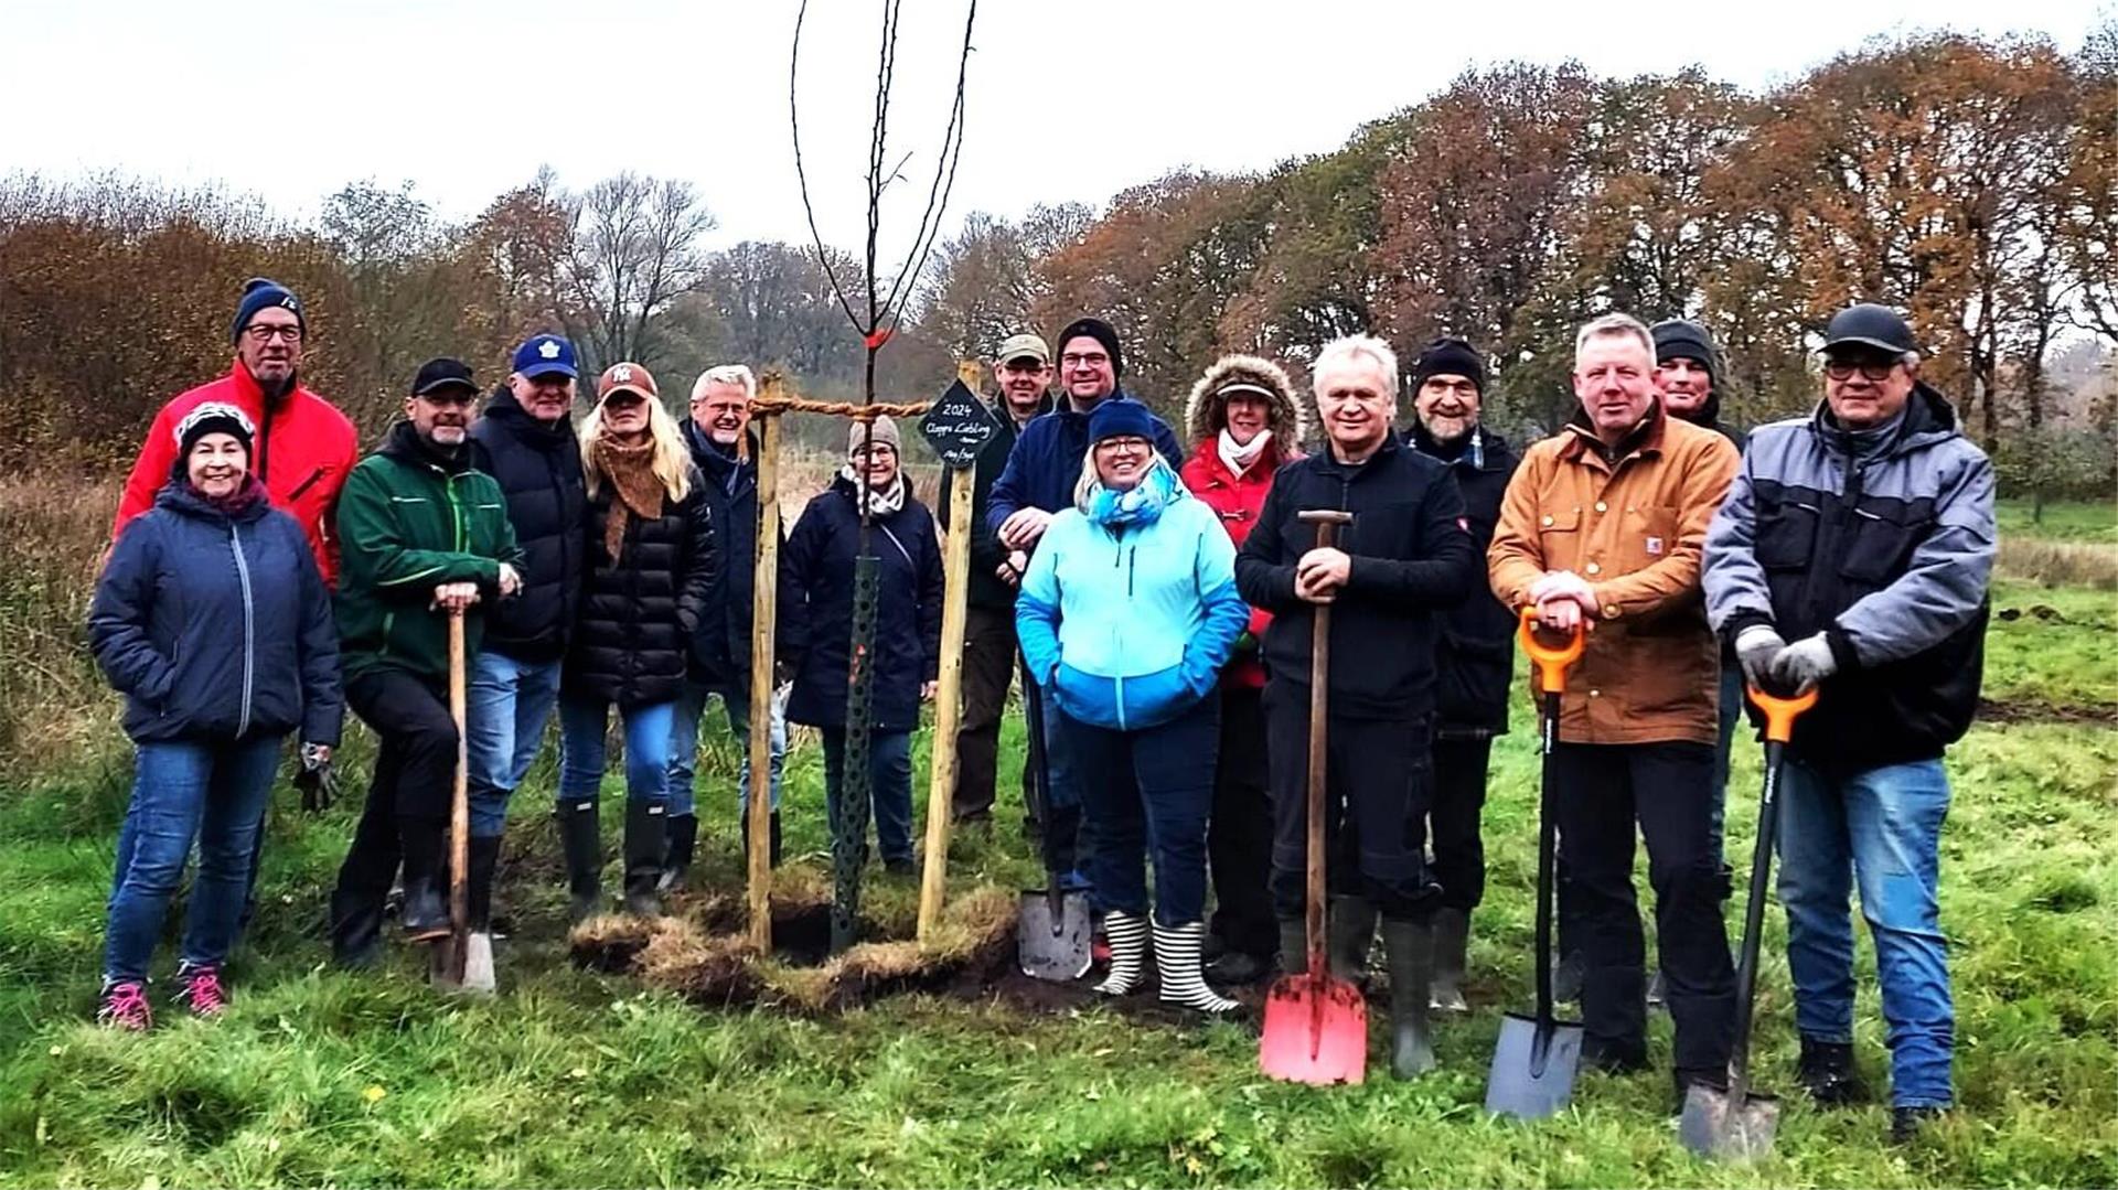
[[(1421, 455), (1449, 464), (1464, 491), (1464, 521), (1478, 557), (1493, 544), (1500, 498), (1521, 455), (1506, 438), (1480, 426), (1455, 443), (1436, 443), (1415, 423), (1411, 445)], [(1478, 582), (1455, 608), (1442, 612), (1442, 637), (1434, 650), (1442, 739), (1485, 739), (1508, 731), (1508, 684), (1514, 680), (1514, 614)]]

